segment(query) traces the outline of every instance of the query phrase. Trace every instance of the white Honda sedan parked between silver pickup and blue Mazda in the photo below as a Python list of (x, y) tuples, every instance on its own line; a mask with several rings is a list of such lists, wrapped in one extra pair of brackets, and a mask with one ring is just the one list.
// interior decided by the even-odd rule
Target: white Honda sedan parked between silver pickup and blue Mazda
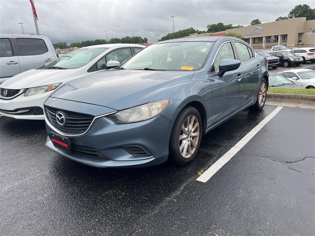
[(80, 48), (37, 69), (13, 76), (0, 85), (0, 115), (44, 119), (43, 103), (55, 89), (86, 74), (117, 67), (143, 48), (137, 44)]

